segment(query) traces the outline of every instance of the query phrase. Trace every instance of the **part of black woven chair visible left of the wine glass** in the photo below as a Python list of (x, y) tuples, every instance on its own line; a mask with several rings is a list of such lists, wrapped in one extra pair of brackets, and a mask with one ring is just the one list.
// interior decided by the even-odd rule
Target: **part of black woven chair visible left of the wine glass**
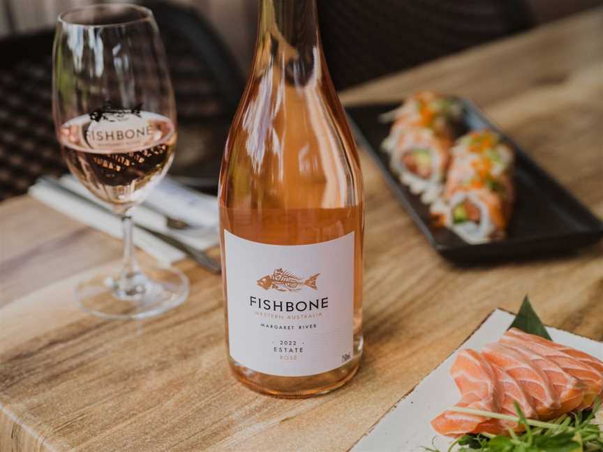
[(0, 42), (0, 200), (66, 171), (52, 122), (52, 36)]

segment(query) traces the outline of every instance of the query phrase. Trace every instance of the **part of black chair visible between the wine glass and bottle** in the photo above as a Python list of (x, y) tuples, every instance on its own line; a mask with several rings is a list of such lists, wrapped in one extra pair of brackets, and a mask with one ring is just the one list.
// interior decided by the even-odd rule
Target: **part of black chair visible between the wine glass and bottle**
[(244, 78), (220, 36), (196, 10), (166, 1), (142, 4), (153, 10), (161, 30), (178, 107), (178, 147), (170, 175), (214, 191)]

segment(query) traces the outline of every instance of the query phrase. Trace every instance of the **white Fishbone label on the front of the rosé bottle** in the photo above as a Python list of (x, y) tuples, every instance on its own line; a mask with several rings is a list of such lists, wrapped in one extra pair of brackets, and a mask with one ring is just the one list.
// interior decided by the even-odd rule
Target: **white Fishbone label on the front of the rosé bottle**
[(353, 354), (354, 232), (312, 245), (267, 245), (224, 231), (230, 356), (301, 377)]

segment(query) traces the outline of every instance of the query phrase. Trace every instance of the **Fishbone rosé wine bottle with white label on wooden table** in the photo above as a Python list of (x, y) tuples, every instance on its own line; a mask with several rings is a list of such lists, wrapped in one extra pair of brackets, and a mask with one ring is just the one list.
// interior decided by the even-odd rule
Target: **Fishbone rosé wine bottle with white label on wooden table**
[(315, 0), (260, 0), (218, 198), (235, 377), (290, 398), (348, 382), (363, 347), (362, 174)]

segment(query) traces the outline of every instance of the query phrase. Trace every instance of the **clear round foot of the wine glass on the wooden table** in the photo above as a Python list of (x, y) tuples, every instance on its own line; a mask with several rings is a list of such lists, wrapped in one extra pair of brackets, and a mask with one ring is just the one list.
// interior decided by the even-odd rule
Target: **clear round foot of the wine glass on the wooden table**
[(82, 281), (75, 297), (82, 310), (104, 319), (145, 319), (179, 306), (188, 296), (188, 279), (173, 267), (144, 266), (134, 290), (124, 291), (119, 273)]

